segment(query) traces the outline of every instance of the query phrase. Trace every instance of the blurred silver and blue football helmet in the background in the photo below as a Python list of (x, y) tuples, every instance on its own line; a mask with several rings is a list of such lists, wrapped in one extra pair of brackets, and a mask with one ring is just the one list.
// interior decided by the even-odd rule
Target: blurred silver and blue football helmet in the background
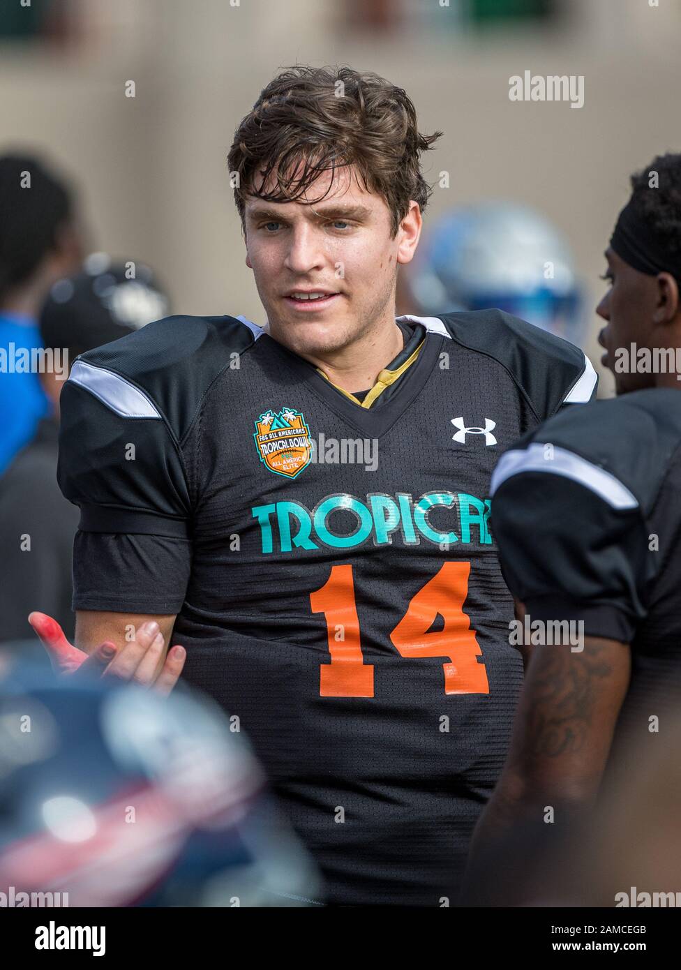
[(398, 277), (398, 310), (499, 307), (577, 346), (583, 299), (568, 242), (527, 206), (481, 202), (446, 212)]

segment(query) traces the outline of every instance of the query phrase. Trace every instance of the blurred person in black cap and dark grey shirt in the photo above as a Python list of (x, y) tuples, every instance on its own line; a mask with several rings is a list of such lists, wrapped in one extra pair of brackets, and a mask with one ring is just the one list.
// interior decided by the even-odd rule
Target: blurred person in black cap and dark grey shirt
[(131, 267), (92, 253), (80, 273), (54, 283), (42, 309), (39, 340), (64, 370), (41, 372), (49, 414), (0, 477), (0, 642), (27, 637), (26, 617), (34, 609), (48, 613), (67, 635), (74, 632), (71, 561), (79, 513), (56, 481), (59, 397), (79, 354), (168, 312), (168, 298), (148, 267)]

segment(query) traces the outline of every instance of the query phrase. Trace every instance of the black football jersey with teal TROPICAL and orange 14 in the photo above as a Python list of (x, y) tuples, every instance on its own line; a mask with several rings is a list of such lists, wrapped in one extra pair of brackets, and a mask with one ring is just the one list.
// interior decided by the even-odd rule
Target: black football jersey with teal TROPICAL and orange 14
[(522, 681), (490, 474), (597, 378), (499, 310), (398, 322), (361, 402), (243, 318), (149, 324), (75, 363), (58, 476), (74, 609), (178, 614), (326, 898), (438, 906)]

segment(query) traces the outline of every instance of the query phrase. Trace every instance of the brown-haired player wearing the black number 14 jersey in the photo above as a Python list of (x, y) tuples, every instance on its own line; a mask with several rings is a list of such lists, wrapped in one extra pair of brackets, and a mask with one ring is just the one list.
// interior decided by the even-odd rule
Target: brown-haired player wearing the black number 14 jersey
[(182, 643), (340, 903), (456, 892), (522, 680), (490, 474), (597, 381), (499, 310), (395, 319), (433, 140), (375, 75), (283, 72), (229, 156), (267, 325), (150, 324), (62, 394), (78, 646)]

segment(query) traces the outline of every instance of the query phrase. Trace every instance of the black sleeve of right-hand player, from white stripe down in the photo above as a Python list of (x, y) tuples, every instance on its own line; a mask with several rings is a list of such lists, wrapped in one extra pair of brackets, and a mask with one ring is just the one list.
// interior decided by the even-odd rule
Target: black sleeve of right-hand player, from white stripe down
[(646, 615), (649, 578), (639, 504), (573, 452), (546, 453), (539, 443), (506, 452), (493, 478), (506, 584), (532, 620), (583, 621), (586, 635), (628, 643)]

